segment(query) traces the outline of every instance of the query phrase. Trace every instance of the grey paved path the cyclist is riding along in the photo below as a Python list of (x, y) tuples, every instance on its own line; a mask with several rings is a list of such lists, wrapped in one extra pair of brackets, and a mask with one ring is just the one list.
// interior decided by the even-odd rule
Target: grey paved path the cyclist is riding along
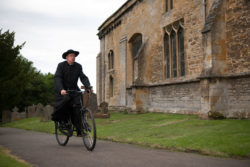
[[(0, 145), (39, 167), (249, 167), (249, 160), (215, 158), (97, 141), (88, 152), (81, 138), (59, 146), (52, 134), (0, 128)], [(1, 162), (0, 162), (1, 166)]]

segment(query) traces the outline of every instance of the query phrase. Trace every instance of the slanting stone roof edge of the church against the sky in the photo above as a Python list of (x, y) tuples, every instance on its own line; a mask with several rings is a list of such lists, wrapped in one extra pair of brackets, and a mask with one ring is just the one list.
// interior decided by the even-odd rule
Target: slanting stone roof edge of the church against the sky
[[(130, 8), (131, 6), (135, 5), (137, 2), (141, 2), (142, 0), (127, 0), (119, 9), (117, 9), (111, 16), (109, 16), (99, 27), (98, 30), (100, 31), (101, 29), (104, 29), (106, 26), (108, 26), (110, 23), (112, 23), (111, 19), (114, 18), (113, 20), (115, 20), (115, 18), (119, 18), (122, 15), (124, 15), (128, 8)], [(131, 3), (131, 4), (129, 4)], [(110, 22), (110, 23), (108, 23)], [(107, 24), (108, 23), (108, 24)], [(105, 25), (107, 24), (107, 25)]]

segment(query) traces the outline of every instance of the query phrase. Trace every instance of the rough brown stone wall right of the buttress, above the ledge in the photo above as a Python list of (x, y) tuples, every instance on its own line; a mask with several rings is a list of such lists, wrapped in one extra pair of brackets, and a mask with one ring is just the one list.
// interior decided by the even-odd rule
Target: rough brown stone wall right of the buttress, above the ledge
[(226, 36), (228, 73), (250, 72), (250, 1), (227, 1)]

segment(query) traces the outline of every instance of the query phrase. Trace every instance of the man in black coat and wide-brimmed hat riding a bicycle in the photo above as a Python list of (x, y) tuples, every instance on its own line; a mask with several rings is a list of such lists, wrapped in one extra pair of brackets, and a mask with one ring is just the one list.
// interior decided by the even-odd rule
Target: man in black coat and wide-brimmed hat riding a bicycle
[[(66, 121), (71, 117), (73, 125), (76, 127), (77, 135), (81, 135), (81, 96), (69, 96), (67, 90), (80, 90), (77, 86), (80, 78), (87, 91), (93, 91), (88, 77), (82, 72), (82, 66), (75, 62), (78, 51), (72, 49), (63, 53), (62, 58), (66, 59), (58, 64), (54, 76), (55, 82), (55, 112), (52, 114), (53, 121)], [(67, 115), (69, 112), (70, 115)]]

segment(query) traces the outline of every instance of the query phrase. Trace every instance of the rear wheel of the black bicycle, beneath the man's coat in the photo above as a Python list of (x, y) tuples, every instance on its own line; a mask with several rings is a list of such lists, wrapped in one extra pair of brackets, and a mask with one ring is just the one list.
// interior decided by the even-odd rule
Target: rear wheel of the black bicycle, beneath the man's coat
[(57, 143), (61, 146), (65, 146), (69, 137), (73, 134), (72, 123), (68, 122), (66, 124), (61, 124), (60, 122), (55, 122), (55, 135)]

